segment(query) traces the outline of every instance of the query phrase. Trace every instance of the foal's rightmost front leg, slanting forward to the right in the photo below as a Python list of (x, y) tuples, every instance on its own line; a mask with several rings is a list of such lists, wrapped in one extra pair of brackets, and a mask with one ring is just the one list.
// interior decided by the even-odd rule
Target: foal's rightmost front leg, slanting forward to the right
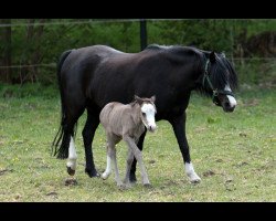
[(142, 178), (142, 185), (144, 186), (150, 186), (149, 183), (149, 178), (148, 178), (148, 175), (146, 172), (146, 168), (145, 168), (145, 165), (142, 162), (142, 154), (141, 154), (141, 150), (138, 149), (138, 147), (136, 146), (134, 139), (129, 136), (124, 136), (123, 138), (127, 145), (128, 145), (128, 148), (130, 148), (134, 152), (134, 156), (135, 158), (137, 159), (138, 164), (139, 164), (139, 167), (140, 167), (140, 171), (141, 171), (141, 178)]

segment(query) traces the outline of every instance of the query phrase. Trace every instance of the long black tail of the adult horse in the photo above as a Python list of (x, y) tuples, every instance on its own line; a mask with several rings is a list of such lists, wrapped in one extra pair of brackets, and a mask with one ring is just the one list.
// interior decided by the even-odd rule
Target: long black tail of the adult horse
[[(67, 125), (66, 125), (66, 115), (65, 115), (65, 105), (64, 105), (64, 94), (63, 94), (63, 87), (61, 84), (61, 70), (64, 61), (70, 55), (72, 50), (65, 51), (62, 53), (60, 61), (57, 62), (57, 84), (59, 90), (61, 94), (61, 125), (59, 128), (59, 131), (55, 135), (55, 138), (52, 143), (52, 155), (56, 156), (60, 159), (64, 159), (68, 157), (68, 146), (70, 146), (70, 136), (71, 134), (67, 131)], [(61, 143), (61, 144), (60, 144)], [(59, 148), (60, 147), (60, 148)]]

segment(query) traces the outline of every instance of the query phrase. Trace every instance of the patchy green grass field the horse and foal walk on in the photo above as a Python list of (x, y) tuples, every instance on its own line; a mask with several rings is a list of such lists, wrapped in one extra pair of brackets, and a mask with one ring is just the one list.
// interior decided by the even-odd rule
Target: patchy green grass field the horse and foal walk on
[[(33, 87), (30, 87), (33, 88)], [(41, 95), (36, 94), (36, 91)], [(65, 186), (65, 160), (52, 157), (51, 143), (60, 124), (56, 91), (33, 88), (1, 91), (0, 98), (0, 201), (276, 201), (276, 88), (240, 92), (232, 114), (211, 99), (193, 94), (188, 113), (188, 140), (201, 183), (192, 185), (171, 126), (158, 122), (158, 130), (145, 140), (144, 159), (153, 188), (138, 182), (119, 190), (114, 173), (108, 180), (84, 172), (82, 128), (76, 136), (77, 185)], [(28, 91), (30, 92), (30, 91)], [(126, 146), (117, 147), (121, 177)], [(106, 164), (105, 136), (99, 127), (94, 139), (95, 164)]]

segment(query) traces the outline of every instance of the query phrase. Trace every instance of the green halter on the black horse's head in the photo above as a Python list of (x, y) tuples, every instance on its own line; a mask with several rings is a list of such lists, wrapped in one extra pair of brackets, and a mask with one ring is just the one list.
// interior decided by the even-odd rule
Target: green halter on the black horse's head
[(209, 87), (212, 90), (213, 92), (213, 95), (212, 95), (212, 101), (215, 105), (220, 106), (220, 99), (219, 99), (219, 95), (220, 94), (223, 94), (223, 95), (231, 95), (234, 97), (234, 94), (231, 92), (231, 91), (225, 91), (225, 90), (217, 90), (217, 88), (214, 88), (211, 80), (210, 80), (210, 73), (208, 73), (208, 65), (210, 63), (210, 60), (208, 59), (206, 61), (206, 64), (205, 64), (205, 69), (204, 69), (204, 75), (203, 75), (203, 81), (202, 81), (202, 85), (204, 87), (205, 85), (205, 81), (208, 82), (209, 84)]

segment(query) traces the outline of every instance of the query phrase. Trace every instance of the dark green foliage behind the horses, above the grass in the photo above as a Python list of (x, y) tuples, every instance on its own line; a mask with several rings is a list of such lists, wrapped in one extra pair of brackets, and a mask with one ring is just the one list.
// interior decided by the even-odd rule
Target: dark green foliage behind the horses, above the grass
[[(68, 49), (106, 44), (139, 52), (139, 20), (1, 19), (0, 82), (53, 84), (55, 63)], [(148, 44), (224, 51), (235, 64), (241, 83), (247, 84), (275, 84), (275, 29), (274, 19), (147, 21)]]

